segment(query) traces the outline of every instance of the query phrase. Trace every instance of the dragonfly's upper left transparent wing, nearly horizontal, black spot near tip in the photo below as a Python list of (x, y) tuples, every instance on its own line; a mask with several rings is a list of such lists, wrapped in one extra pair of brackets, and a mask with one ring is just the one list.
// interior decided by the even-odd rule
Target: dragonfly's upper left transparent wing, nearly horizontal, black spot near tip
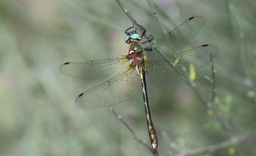
[(80, 79), (100, 79), (114, 74), (129, 65), (127, 56), (110, 56), (92, 61), (66, 62), (60, 72), (66, 76)]

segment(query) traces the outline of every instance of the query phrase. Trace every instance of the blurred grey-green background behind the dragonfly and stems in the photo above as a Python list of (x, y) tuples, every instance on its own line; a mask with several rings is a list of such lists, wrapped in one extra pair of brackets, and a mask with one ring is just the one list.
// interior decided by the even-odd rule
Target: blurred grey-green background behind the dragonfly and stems
[[(219, 48), (213, 60), (213, 107), (231, 127), (227, 133), (185, 80), (164, 86), (147, 83), (159, 155), (205, 148), (228, 140), (229, 134), (254, 132), (256, 1), (153, 2), (168, 32), (192, 16), (204, 17), (203, 28), (184, 49), (202, 44)], [(146, 0), (122, 3), (155, 38), (164, 35)], [(75, 107), (80, 93), (111, 76), (81, 80), (59, 73), (67, 61), (127, 54), (124, 31), (131, 26), (114, 0), (1, 0), (0, 155), (153, 155), (109, 107)], [(210, 102), (212, 84), (204, 78), (211, 78), (210, 63), (195, 73), (194, 83)], [(113, 108), (150, 145), (142, 92)], [(255, 145), (252, 137), (206, 155), (256, 155)]]

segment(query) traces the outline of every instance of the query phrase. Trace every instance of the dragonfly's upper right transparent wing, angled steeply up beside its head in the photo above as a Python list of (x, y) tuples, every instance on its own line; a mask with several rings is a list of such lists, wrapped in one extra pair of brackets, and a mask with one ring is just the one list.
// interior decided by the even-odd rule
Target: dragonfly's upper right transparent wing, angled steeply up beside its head
[[(170, 33), (145, 43), (144, 59), (163, 57), (184, 47), (202, 28), (204, 19), (194, 16), (183, 22)], [(152, 49), (149, 51), (147, 49)]]

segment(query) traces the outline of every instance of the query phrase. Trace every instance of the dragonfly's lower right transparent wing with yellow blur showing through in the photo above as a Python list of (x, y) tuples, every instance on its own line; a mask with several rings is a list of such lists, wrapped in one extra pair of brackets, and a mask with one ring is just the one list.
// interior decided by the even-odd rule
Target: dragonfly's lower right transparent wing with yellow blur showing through
[(144, 60), (149, 81), (164, 85), (178, 81), (200, 68), (219, 52), (214, 45), (201, 45), (175, 55)]

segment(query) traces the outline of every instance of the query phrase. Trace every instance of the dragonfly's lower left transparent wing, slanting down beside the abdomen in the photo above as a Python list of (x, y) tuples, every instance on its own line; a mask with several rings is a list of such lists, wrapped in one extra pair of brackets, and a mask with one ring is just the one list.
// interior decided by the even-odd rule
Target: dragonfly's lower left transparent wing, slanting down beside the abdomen
[(138, 73), (129, 66), (109, 81), (80, 94), (76, 98), (75, 105), (80, 109), (111, 106), (132, 98), (141, 89)]

